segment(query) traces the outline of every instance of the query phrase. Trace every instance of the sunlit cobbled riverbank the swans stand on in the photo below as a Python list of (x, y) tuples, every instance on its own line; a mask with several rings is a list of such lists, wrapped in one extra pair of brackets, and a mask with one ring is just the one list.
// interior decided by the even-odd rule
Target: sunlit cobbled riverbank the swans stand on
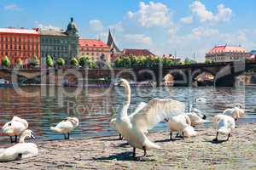
[[(213, 144), (215, 130), (198, 127), (191, 139), (167, 140), (166, 132), (149, 133), (163, 150), (149, 150), (142, 161), (118, 137), (38, 142), (36, 157), (0, 163), (1, 169), (256, 169), (256, 123), (240, 124), (230, 141)], [(221, 139), (225, 139), (222, 137)], [(137, 151), (143, 155), (142, 150)]]

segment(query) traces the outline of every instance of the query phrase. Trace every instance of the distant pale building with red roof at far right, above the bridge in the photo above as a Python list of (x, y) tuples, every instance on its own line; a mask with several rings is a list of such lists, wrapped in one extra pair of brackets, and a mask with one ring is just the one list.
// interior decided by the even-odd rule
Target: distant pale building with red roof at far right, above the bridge
[(250, 59), (250, 53), (241, 46), (222, 45), (212, 48), (207, 54), (206, 59), (212, 62), (230, 62)]

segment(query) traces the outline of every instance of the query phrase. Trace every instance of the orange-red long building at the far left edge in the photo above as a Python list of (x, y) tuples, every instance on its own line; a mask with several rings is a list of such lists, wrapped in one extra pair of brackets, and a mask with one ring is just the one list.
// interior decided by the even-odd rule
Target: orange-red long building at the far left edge
[(40, 59), (40, 36), (38, 29), (0, 28), (0, 63), (4, 56), (9, 57), (12, 65), (18, 59), (26, 62), (32, 56)]

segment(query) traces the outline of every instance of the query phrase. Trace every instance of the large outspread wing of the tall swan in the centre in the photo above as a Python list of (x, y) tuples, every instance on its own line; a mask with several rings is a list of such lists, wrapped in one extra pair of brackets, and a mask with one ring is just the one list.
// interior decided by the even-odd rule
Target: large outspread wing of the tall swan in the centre
[(152, 99), (136, 114), (131, 116), (131, 123), (145, 132), (165, 118), (185, 112), (185, 105), (174, 99)]

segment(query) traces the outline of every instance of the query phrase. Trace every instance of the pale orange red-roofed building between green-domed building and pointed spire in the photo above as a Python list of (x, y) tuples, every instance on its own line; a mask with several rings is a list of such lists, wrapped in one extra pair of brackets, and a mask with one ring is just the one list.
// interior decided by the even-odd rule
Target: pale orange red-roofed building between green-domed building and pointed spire
[(90, 55), (97, 62), (99, 60), (110, 62), (110, 47), (96, 39), (79, 39), (79, 56)]

